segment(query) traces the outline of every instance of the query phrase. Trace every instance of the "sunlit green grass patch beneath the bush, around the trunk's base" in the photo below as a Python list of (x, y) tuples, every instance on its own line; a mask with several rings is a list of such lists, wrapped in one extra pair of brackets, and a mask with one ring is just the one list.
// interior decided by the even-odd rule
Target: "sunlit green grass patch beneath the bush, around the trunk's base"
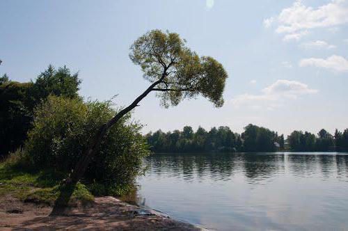
[[(65, 174), (52, 170), (31, 171), (26, 169), (25, 163), (18, 159), (9, 158), (0, 164), (0, 198), (13, 196), (24, 202), (35, 202), (54, 205), (59, 195), (59, 183)], [(1, 199), (0, 199), (1, 200)], [(94, 196), (84, 184), (78, 183), (69, 205), (93, 202)]]

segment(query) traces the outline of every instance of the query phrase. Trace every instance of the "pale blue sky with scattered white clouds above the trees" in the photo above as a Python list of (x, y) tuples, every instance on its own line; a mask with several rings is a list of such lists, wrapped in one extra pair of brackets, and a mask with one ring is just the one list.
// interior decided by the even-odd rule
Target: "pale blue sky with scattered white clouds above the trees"
[(0, 0), (0, 22), (0, 74), (30, 81), (49, 64), (67, 65), (79, 72), (82, 96), (117, 106), (150, 85), (128, 54), (152, 29), (179, 33), (223, 64), (221, 108), (198, 97), (165, 109), (152, 94), (133, 113), (143, 133), (348, 127), (348, 0)]

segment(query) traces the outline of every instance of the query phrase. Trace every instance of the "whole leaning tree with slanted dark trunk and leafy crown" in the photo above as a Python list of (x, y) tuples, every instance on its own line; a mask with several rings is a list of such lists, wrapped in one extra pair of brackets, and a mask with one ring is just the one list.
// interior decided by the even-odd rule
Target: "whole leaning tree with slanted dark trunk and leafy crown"
[[(180, 38), (177, 33), (166, 33), (160, 30), (152, 30), (138, 38), (130, 47), (129, 58), (136, 65), (141, 66), (143, 77), (151, 85), (137, 97), (132, 104), (120, 110), (109, 122), (106, 122), (96, 132), (90, 141), (88, 149), (72, 174), (63, 184), (68, 189), (74, 186), (84, 175), (91, 159), (97, 154), (104, 135), (110, 127), (139, 106), (141, 99), (149, 93), (155, 92), (165, 107), (175, 106), (182, 99), (192, 98), (198, 95), (207, 97), (216, 107), (223, 105), (223, 89), (228, 74), (223, 65), (209, 56), (198, 56), (185, 46), (186, 40)], [(56, 200), (54, 211), (58, 207), (65, 206), (71, 196), (70, 193), (61, 193)], [(62, 196), (63, 195), (63, 196)]]

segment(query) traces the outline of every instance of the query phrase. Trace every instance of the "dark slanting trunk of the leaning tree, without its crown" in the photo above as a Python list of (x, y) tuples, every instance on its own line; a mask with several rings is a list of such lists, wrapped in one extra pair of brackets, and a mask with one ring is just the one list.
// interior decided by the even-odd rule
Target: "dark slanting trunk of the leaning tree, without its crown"
[(90, 160), (93, 158), (95, 153), (97, 152), (97, 147), (100, 145), (102, 138), (104, 138), (104, 135), (108, 131), (110, 127), (115, 125), (125, 114), (127, 114), (129, 111), (132, 111), (136, 106), (139, 106), (138, 103), (141, 102), (141, 99), (145, 98), (148, 93), (152, 91), (152, 89), (157, 86), (157, 84), (161, 83), (164, 78), (166, 77), (166, 69), (164, 71), (164, 74), (162, 74), (161, 79), (158, 81), (155, 81), (155, 83), (152, 83), (148, 89), (146, 89), (143, 94), (139, 95), (132, 104), (129, 104), (125, 109), (122, 109), (119, 113), (116, 114), (109, 122), (106, 122), (106, 124), (102, 125), (100, 129), (98, 129), (98, 132), (95, 134), (93, 140), (90, 142), (90, 145), (88, 146), (88, 149), (84, 153), (84, 156), (81, 157), (81, 159), (77, 162), (77, 165), (75, 166), (72, 175), (68, 177), (63, 184), (60, 186), (60, 194), (58, 196), (58, 199), (54, 202), (54, 208), (52, 210), (52, 215), (60, 214), (63, 212), (64, 207), (68, 206), (68, 202), (70, 200), (70, 197), (72, 196), (72, 193), (74, 192), (75, 186), (77, 182), (81, 179), (81, 177), (86, 172), (86, 169), (88, 167), (88, 164), (90, 163)]

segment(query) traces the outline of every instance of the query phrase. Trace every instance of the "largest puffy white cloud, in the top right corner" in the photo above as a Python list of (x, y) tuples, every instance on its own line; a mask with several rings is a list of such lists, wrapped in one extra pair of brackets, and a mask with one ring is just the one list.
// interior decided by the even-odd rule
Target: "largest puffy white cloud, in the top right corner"
[(264, 26), (270, 22), (278, 25), (276, 33), (283, 33), (283, 40), (299, 40), (304, 31), (310, 29), (331, 27), (338, 28), (348, 23), (348, 0), (331, 0), (324, 6), (312, 8), (305, 6), (301, 0), (296, 0), (289, 8), (284, 8), (276, 17), (264, 19)]

